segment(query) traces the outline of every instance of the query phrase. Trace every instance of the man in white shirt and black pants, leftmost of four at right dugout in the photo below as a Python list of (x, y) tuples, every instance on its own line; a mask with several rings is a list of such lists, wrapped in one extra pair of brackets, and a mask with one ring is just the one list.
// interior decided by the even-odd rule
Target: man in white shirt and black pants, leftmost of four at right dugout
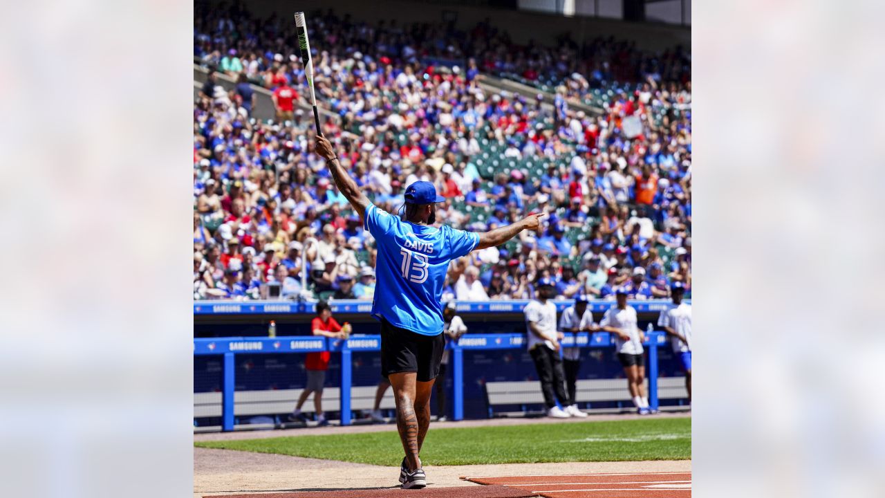
[(559, 339), (563, 338), (563, 334), (556, 330), (556, 305), (553, 304), (556, 283), (545, 276), (535, 284), (535, 291), (536, 299), (529, 301), (523, 310), (526, 315), (528, 354), (531, 354), (535, 370), (538, 371), (547, 416), (568, 418), (571, 415), (557, 406), (557, 400), (564, 407), (571, 403), (566, 394), (562, 358), (559, 357)]

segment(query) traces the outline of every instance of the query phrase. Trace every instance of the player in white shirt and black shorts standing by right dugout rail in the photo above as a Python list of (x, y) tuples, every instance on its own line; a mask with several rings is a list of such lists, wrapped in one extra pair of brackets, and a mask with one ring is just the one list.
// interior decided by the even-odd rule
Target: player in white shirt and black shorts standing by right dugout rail
[(605, 311), (599, 322), (601, 330), (615, 334), (615, 351), (627, 375), (627, 389), (633, 398), (639, 415), (650, 414), (649, 401), (645, 394), (645, 334), (636, 326), (636, 309), (627, 304), (627, 289), (618, 287), (615, 291), (617, 304)]

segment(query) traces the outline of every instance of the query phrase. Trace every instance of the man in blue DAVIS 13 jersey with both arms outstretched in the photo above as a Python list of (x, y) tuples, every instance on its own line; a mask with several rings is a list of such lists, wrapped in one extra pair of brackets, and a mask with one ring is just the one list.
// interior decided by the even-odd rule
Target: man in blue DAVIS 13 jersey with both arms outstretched
[(436, 195), (433, 183), (415, 182), (405, 189), (400, 219), (369, 202), (324, 136), (317, 136), (316, 152), (378, 245), (372, 315), (381, 321), (381, 375), (394, 389), (396, 427), (405, 450), (400, 482), (405, 489), (424, 487), (419, 453), (445, 346), (442, 297), (449, 261), (504, 244), (522, 230), (537, 230), (543, 214), (483, 233), (435, 228), (435, 203), (445, 199)]

